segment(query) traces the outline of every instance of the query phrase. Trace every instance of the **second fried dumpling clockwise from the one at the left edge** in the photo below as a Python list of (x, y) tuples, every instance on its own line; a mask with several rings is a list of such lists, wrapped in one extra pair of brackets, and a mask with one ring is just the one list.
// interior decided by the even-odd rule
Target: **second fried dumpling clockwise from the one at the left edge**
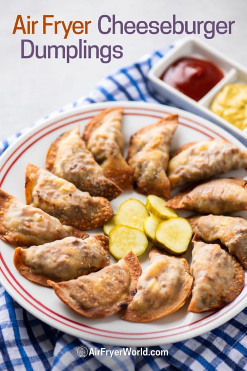
[(51, 144), (46, 155), (46, 169), (91, 196), (111, 200), (122, 193), (118, 185), (103, 175), (101, 167), (87, 150), (79, 125)]

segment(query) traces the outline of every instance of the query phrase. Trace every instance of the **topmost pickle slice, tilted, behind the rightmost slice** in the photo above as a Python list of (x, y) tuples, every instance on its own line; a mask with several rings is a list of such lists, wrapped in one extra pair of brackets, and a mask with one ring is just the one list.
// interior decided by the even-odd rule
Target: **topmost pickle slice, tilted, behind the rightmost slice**
[(165, 204), (166, 201), (163, 198), (150, 194), (147, 197), (146, 208), (151, 214), (162, 220), (177, 218), (176, 210), (166, 207)]

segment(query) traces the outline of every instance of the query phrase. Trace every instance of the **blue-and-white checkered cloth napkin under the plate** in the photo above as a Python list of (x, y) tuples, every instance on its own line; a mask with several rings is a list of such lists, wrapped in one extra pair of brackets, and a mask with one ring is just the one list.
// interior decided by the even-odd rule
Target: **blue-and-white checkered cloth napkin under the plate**
[[(83, 104), (109, 100), (170, 104), (154, 93), (147, 81), (148, 70), (168, 49), (169, 47), (165, 47), (147, 55), (140, 62), (108, 76), (88, 96), (59, 112)], [(0, 153), (22, 132), (0, 142)], [(149, 353), (151, 350), (166, 350), (168, 355), (163, 357), (158, 356), (158, 352), (156, 356), (141, 355), (138, 352), (136, 356), (117, 356), (115, 352), (110, 357), (102, 354), (102, 348), (108, 351), (121, 351), (122, 348), (90, 343), (46, 325), (23, 309), (0, 286), (0, 371), (243, 371), (247, 370), (246, 324), (247, 309), (226, 324), (201, 336), (149, 348)], [(95, 351), (94, 355), (84, 357), (84, 347), (98, 350), (100, 355), (95, 355)], [(132, 350), (138, 348), (132, 347)]]

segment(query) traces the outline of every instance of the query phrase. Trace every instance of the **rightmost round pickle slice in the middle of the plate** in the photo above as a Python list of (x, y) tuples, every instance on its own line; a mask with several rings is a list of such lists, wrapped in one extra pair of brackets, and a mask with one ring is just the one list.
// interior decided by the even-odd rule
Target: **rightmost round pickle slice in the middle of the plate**
[(184, 218), (161, 222), (155, 231), (155, 244), (173, 255), (182, 255), (188, 249), (193, 231)]

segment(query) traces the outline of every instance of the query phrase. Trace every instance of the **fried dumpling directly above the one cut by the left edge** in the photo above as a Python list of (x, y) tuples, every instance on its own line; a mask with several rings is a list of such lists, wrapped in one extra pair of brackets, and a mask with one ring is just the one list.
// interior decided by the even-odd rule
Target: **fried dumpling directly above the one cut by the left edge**
[(92, 197), (73, 183), (38, 166), (26, 166), (26, 202), (80, 230), (102, 226), (113, 215), (110, 202)]

